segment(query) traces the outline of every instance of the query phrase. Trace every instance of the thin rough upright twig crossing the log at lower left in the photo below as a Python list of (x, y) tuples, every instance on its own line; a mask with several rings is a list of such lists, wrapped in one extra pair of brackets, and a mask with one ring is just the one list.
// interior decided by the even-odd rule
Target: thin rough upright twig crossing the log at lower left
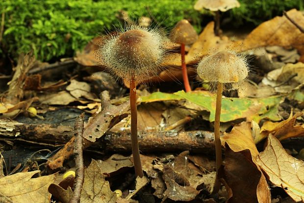
[(70, 203), (80, 203), (80, 194), (82, 190), (82, 185), (84, 181), (84, 166), (83, 166), (83, 121), (84, 113), (80, 114), (76, 118), (75, 121), (75, 146), (74, 146), (74, 154), (75, 164), (76, 164), (76, 176), (74, 182), (74, 192), (73, 197), (70, 200)]

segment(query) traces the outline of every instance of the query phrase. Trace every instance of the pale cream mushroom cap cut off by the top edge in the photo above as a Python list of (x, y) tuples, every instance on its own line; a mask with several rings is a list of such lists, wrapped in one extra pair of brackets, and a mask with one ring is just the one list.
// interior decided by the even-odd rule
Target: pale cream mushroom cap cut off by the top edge
[(198, 0), (194, 5), (194, 9), (199, 11), (204, 8), (210, 11), (225, 12), (235, 7), (240, 7), (240, 3), (237, 0)]

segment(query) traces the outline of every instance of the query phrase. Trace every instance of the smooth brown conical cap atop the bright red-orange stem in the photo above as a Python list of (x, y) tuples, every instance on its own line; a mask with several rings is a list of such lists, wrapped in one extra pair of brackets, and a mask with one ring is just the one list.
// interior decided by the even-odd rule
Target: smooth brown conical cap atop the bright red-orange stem
[(177, 44), (190, 45), (198, 39), (193, 26), (187, 20), (180, 20), (171, 31), (171, 40)]

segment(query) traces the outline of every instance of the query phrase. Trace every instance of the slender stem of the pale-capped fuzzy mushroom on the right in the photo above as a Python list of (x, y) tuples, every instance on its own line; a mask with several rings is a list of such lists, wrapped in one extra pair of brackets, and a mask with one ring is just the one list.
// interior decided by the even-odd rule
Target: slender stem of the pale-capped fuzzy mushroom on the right
[(218, 171), (222, 165), (222, 147), (220, 139), (220, 119), (222, 109), (222, 94), (223, 83), (218, 82), (217, 95), (216, 95), (216, 107), (215, 107), (215, 119), (214, 119), (214, 145), (215, 145), (215, 157), (216, 157), (216, 178), (214, 182), (213, 192), (217, 193), (220, 190), (221, 183), (218, 179)]

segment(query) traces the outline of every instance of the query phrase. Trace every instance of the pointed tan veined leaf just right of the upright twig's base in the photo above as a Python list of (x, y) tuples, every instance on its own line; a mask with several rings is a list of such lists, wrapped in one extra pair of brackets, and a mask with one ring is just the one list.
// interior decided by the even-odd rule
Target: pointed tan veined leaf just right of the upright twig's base
[(93, 159), (84, 170), (81, 203), (116, 203), (117, 195), (111, 191), (109, 182), (104, 178), (98, 162)]

